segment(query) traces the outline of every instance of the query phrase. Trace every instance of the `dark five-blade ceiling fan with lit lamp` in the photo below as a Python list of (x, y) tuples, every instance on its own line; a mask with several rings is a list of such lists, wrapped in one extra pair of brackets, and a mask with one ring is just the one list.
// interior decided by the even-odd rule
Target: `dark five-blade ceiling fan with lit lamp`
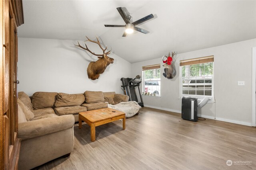
[(147, 31), (146, 29), (136, 27), (136, 25), (154, 18), (153, 14), (150, 14), (148, 16), (145, 16), (144, 18), (141, 18), (140, 20), (137, 20), (137, 21), (133, 22), (132, 21), (132, 16), (126, 15), (125, 12), (124, 12), (124, 9), (122, 7), (118, 7), (116, 9), (118, 10), (119, 14), (122, 16), (126, 25), (106, 25), (105, 24), (105, 27), (126, 27), (122, 37), (127, 37), (127, 34), (133, 33), (134, 30), (139, 31), (139, 32), (144, 33), (144, 34), (149, 33), (149, 31)]

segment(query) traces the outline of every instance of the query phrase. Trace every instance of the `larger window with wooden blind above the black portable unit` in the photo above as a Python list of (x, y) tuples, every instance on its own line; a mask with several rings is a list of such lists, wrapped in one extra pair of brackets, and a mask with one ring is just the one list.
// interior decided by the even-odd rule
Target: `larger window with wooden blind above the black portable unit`
[(180, 96), (208, 96), (213, 100), (213, 64), (214, 56), (180, 61)]

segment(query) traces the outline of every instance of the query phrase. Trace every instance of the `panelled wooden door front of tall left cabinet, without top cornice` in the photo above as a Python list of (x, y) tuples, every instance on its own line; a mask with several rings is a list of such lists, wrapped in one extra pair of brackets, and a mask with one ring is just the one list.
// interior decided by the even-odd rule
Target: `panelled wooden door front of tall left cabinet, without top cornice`
[(12, 3), (3, 1), (2, 169), (15, 169), (19, 154), (16, 99), (17, 27)]

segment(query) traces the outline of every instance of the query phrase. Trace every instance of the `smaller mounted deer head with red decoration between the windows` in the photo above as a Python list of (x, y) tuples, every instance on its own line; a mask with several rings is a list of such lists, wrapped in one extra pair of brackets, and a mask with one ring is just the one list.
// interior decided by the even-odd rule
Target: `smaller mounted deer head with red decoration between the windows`
[(172, 61), (173, 57), (174, 57), (175, 52), (172, 52), (172, 56), (170, 56), (170, 52), (169, 52), (169, 56), (167, 57), (166, 55), (163, 56), (163, 63), (164, 63), (164, 77), (166, 78), (174, 78), (176, 76), (176, 69), (174, 66), (174, 61)]

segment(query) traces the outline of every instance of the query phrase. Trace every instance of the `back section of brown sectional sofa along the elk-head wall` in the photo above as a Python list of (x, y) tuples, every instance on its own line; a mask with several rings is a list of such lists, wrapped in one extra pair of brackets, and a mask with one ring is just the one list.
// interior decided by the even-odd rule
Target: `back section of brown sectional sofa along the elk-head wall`
[[(18, 96), (24, 92), (19, 92)], [(108, 107), (108, 99), (113, 99), (116, 102), (110, 104), (117, 104), (120, 102), (128, 102), (129, 96), (123, 94), (116, 94), (115, 92), (94, 92), (86, 91), (84, 94), (65, 94), (57, 92), (35, 92), (31, 97), (31, 109), (39, 110), (40, 112), (51, 111), (57, 115), (74, 115), (75, 122), (78, 121), (78, 113), (94, 109)], [(28, 103), (28, 102), (27, 102)]]

